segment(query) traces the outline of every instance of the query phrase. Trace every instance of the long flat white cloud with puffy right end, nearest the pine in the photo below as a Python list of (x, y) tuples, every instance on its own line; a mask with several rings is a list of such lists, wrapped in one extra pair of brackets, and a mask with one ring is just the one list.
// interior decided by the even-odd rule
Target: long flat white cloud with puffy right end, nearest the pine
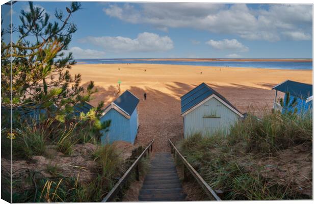
[(159, 36), (155, 33), (140, 33), (136, 39), (128, 37), (92, 37), (80, 39), (81, 43), (92, 43), (101, 46), (109, 52), (157, 52), (173, 48), (173, 41), (168, 36)]

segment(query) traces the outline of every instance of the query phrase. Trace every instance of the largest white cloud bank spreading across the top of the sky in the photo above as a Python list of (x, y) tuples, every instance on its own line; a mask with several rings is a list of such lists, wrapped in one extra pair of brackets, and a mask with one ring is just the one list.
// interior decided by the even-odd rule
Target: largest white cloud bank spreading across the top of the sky
[[(157, 29), (194, 28), (212, 33), (235, 34), (249, 40), (277, 41), (283, 32), (312, 33), (312, 5), (278, 4), (253, 9), (245, 4), (141, 3), (110, 4), (106, 15)], [(286, 37), (286, 36), (285, 36)]]

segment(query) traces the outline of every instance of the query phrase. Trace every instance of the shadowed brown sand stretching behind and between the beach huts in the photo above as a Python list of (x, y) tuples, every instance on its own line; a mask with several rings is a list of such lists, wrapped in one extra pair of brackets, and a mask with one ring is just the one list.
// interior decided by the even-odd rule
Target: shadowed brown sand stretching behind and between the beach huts
[[(260, 116), (263, 109), (269, 110), (273, 106), (275, 94), (271, 90), (273, 84), (258, 84), (269, 89), (239, 84), (231, 84), (231, 86), (207, 84), (226, 97), (242, 113), (252, 111)], [(197, 85), (173, 82), (172, 85), (166, 85), (170, 91), (169, 94), (150, 87), (145, 87), (145, 89), (135, 86), (130, 87), (128, 90), (140, 99), (138, 105), (140, 128), (135, 145), (147, 145), (152, 139), (155, 139), (155, 151), (170, 151), (168, 139), (178, 140), (183, 138), (180, 97)], [(96, 86), (96, 88), (98, 92), (93, 94), (94, 99), (90, 102), (94, 106), (101, 100), (107, 106), (119, 96), (117, 87), (110, 86), (105, 89)], [(144, 92), (147, 94), (146, 100), (143, 98)]]

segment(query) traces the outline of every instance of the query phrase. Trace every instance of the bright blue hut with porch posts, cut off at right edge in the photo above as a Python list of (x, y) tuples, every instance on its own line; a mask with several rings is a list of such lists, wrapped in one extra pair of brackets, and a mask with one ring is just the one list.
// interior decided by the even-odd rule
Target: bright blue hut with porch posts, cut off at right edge
[[(281, 110), (282, 113), (297, 110), (297, 114), (305, 114), (308, 110), (312, 110), (313, 86), (311, 84), (286, 80), (273, 87), (272, 90), (276, 90), (273, 109)], [(282, 106), (279, 104), (278, 92), (284, 93)], [(286, 104), (285, 98), (287, 97), (289, 101)], [(293, 100), (296, 100), (296, 103), (294, 106), (290, 106)]]

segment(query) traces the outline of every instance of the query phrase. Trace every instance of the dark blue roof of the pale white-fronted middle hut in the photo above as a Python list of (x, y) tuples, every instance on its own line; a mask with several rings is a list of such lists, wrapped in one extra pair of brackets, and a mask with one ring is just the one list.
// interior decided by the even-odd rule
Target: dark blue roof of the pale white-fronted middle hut
[(216, 95), (217, 98), (221, 100), (224, 105), (228, 106), (236, 114), (243, 117), (243, 114), (238, 109), (236, 109), (224, 96), (219, 94), (214, 89), (210, 88), (205, 83), (200, 84), (199, 86), (189, 91), (187, 94), (181, 96), (181, 115), (183, 115), (193, 107), (201, 104), (203, 100), (212, 95)]

